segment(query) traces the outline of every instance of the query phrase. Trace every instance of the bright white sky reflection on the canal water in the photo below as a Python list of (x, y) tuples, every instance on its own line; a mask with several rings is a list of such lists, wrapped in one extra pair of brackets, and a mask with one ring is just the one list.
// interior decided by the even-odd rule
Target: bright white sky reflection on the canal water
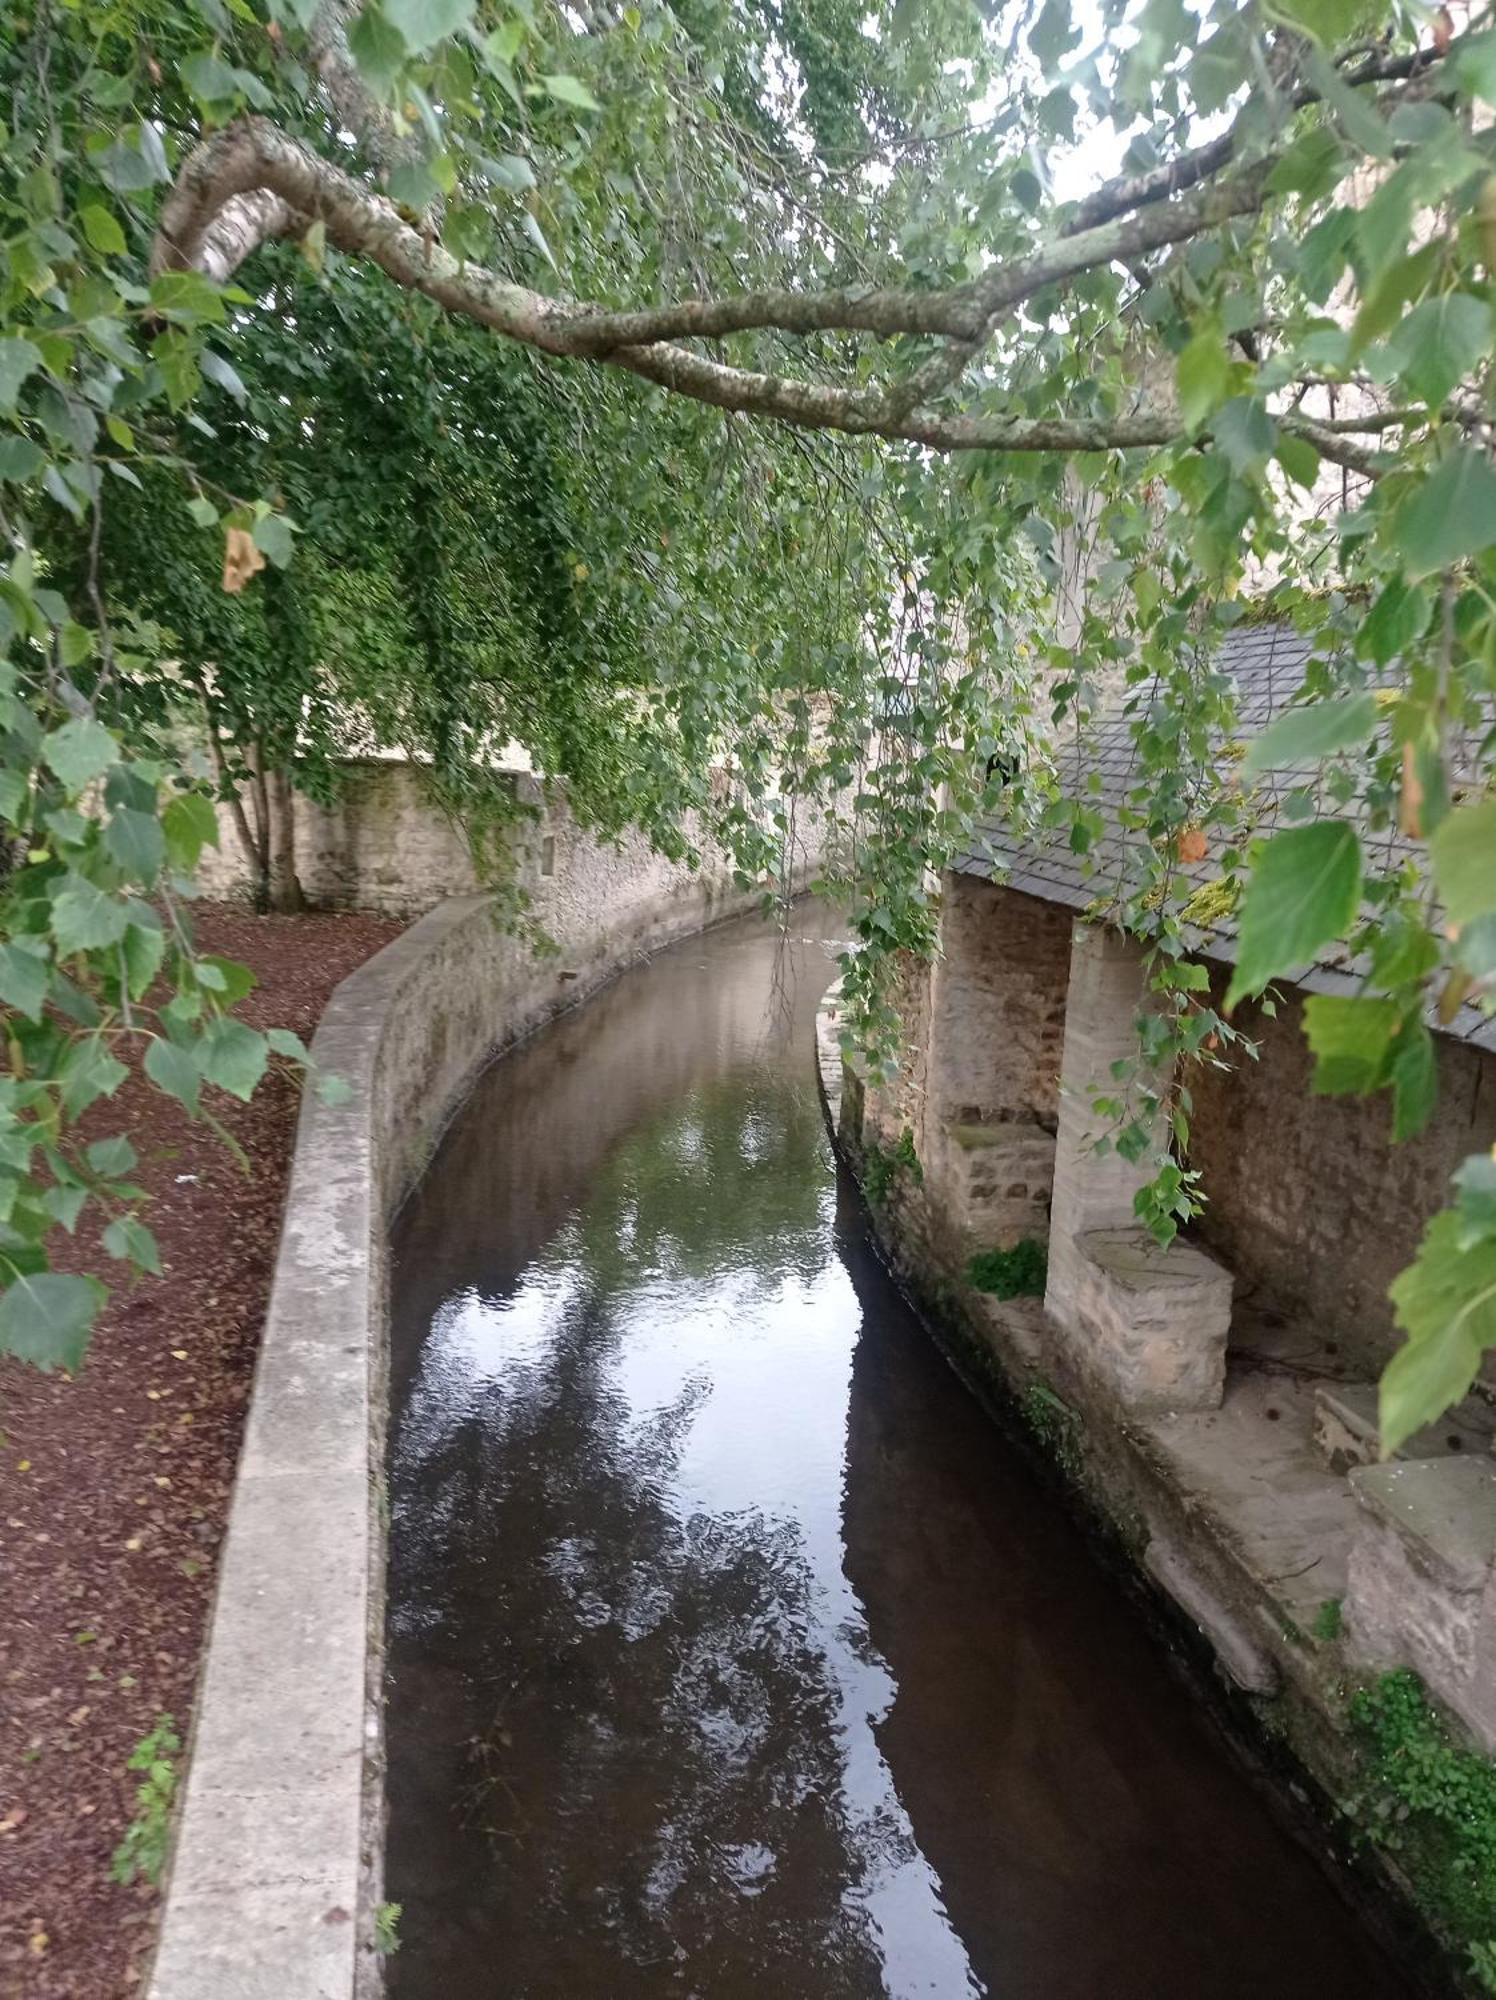
[[(472, 1288), (450, 1296), (434, 1314), (398, 1424), (396, 1488), (420, 1480), (422, 1468), (430, 1474), (428, 1462), (440, 1460), (464, 1426), (482, 1424), (490, 1448), (502, 1450), (506, 1410), (512, 1416), (548, 1394), (560, 1350), (576, 1338), (578, 1314), (586, 1316), (590, 1352), (602, 1358), (594, 1392), (610, 1430), (642, 1446), (650, 1498), (700, 1548), (720, 1536), (728, 1546), (752, 1540), (786, 1550), (786, 1588), (768, 1630), (760, 1616), (746, 1634), (734, 1632), (740, 1644), (768, 1640), (792, 1678), (814, 1662), (830, 1690), (822, 1770), (840, 1788), (834, 1818), (850, 1850), (842, 1906), (874, 1950), (884, 1990), (900, 2000), (978, 1994), (984, 1986), (946, 1920), (938, 1880), (874, 1738), (894, 1682), (842, 1574), (846, 1412), (860, 1312), (832, 1246), (830, 1162), (820, 1142), (808, 1148), (814, 1158), (804, 1168), (818, 1182), (806, 1190), (810, 1226), (788, 1232), (782, 1256), (774, 1228), (750, 1244), (740, 1240), (734, 1218), (722, 1230), (718, 1202), (732, 1194), (710, 1180), (724, 1140), (746, 1168), (774, 1172), (776, 1150), (786, 1150), (778, 1110), (764, 1092), (748, 1102), (718, 1094), (706, 1108), (688, 1100), (652, 1138), (650, 1174), (668, 1162), (670, 1178), (680, 1180), (668, 1230), (656, 1216), (646, 1236), (650, 1194), (624, 1172), (598, 1212), (584, 1210), (552, 1238), (512, 1296), (484, 1298)], [(732, 1130), (724, 1132), (728, 1118)], [(752, 1222), (746, 1228), (752, 1232)], [(722, 1254), (702, 1260), (704, 1246), (690, 1240), (696, 1234), (706, 1248), (722, 1234)], [(586, 1466), (572, 1472), (582, 1482), (588, 1476)], [(430, 1528), (438, 1540), (442, 1530), (460, 1532), (454, 1512), (462, 1504), (440, 1476), (434, 1484), (424, 1478), (422, 1540)], [(640, 1642), (670, 1616), (670, 1572), (648, 1574), (648, 1556), (620, 1572), (610, 1558), (612, 1550), (598, 1550), (586, 1532), (560, 1534), (540, 1554), (578, 1632), (616, 1628)], [(412, 1612), (406, 1606), (402, 1616)], [(416, 1622), (428, 1618), (430, 1604)], [(694, 1686), (676, 1688), (676, 1700), (690, 1700), (708, 1760), (752, 1766), (772, 1724), (760, 1722), (752, 1700), (738, 1698), (732, 1662), (722, 1664), (728, 1692), (720, 1702)], [(646, 1874), (646, 1896), (662, 1916), (694, 1852), (692, 1838), (676, 1834), (668, 1824), (654, 1828), (656, 1854)], [(764, 1894), (780, 1862), (772, 1846), (752, 1838), (716, 1844), (718, 1870), (744, 1900)]]

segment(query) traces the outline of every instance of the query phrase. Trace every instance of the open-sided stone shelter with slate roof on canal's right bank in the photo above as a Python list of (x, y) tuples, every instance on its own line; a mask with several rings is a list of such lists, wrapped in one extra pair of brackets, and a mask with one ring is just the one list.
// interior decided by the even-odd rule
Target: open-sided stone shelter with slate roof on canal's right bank
[[(1248, 732), (1308, 658), (1284, 628), (1226, 640), (1218, 666)], [(1086, 786), (1106, 824), (1086, 860), (1064, 836), (1020, 844), (998, 824), (944, 878), (940, 956), (906, 974), (910, 1062), (866, 1096), (848, 1072), (842, 1136), (884, 1160), (884, 1234), (960, 1364), (1050, 1442), (1058, 1426), (1098, 1512), (1226, 1676), (1284, 1698), (1286, 1734), (1326, 1786), (1346, 1668), (1416, 1668), (1496, 1750), (1496, 1412), (1478, 1392), (1386, 1464), (1376, 1436), (1376, 1376), (1400, 1338), (1388, 1282), (1454, 1166), (1496, 1142), (1496, 1020), (1466, 1006), (1440, 1026), (1438, 1112), (1392, 1146), (1384, 1098), (1308, 1090), (1304, 994), (1354, 992), (1354, 966), (1280, 982), (1276, 1012), (1238, 1008), (1256, 1056), (1188, 1076), (1208, 1206), (1160, 1250), (1134, 1214), (1152, 1166), (1096, 1150), (1092, 1110), (1152, 1004), (1142, 946), (1102, 916), (1138, 862), (1142, 836), (1118, 824), (1132, 756), (1120, 706), (1062, 754), (1062, 782)], [(1212, 862), (1182, 874), (1188, 898)], [(1220, 1002), (1230, 920), (1190, 944)], [(904, 1134), (920, 1174), (896, 1170)], [(1024, 1238), (1048, 1248), (1042, 1300), (970, 1282), (974, 1254)], [(1316, 1632), (1334, 1634), (1328, 1650)]]

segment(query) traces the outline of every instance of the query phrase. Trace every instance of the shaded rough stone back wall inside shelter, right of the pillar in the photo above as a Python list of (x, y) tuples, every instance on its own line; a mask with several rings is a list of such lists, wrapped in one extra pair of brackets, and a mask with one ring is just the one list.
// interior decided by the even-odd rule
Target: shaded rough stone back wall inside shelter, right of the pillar
[[(1214, 1002), (1224, 996), (1224, 976)], [(1236, 1298), (1334, 1340), (1380, 1372), (1398, 1346), (1386, 1290), (1412, 1262), (1468, 1152), (1496, 1142), (1496, 1058), (1438, 1040), (1440, 1096), (1426, 1132), (1392, 1144), (1392, 1104), (1310, 1096), (1302, 1006), (1234, 1016), (1258, 1060), (1194, 1068), (1190, 1164), (1210, 1200), (1194, 1234), (1236, 1272)]]

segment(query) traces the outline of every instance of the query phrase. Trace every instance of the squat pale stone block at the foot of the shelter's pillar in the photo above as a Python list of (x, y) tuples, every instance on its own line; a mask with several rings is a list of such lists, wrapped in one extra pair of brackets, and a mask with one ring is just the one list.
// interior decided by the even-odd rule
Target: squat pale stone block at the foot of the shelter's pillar
[(1050, 1312), (1128, 1410), (1214, 1410), (1226, 1386), (1232, 1276), (1194, 1244), (1140, 1228), (1086, 1230)]

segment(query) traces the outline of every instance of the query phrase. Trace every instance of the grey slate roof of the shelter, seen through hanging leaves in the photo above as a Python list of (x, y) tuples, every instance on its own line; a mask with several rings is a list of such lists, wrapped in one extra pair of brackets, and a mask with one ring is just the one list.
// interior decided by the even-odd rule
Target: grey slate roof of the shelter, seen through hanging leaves
[[(1236, 684), (1240, 714), (1236, 738), (1240, 742), (1258, 736), (1290, 704), (1304, 684), (1312, 656), (1310, 640), (1290, 626), (1244, 624), (1226, 634), (1216, 650), (1214, 666)], [(1148, 694), (1148, 686), (1128, 690), (1122, 702), (1106, 710), (1086, 730), (1084, 740), (1072, 730), (1056, 750), (1064, 792), (1096, 806), (1104, 820), (1104, 832), (1088, 854), (1070, 850), (1066, 828), (1018, 834), (1004, 818), (992, 818), (982, 824), (974, 848), (958, 856), (956, 870), (1092, 914), (1120, 910), (1136, 896), (1148, 880), (1148, 836), (1140, 830), (1128, 830), (1124, 818), (1130, 794), (1142, 782), (1132, 726), (1138, 710), (1146, 706)], [(1218, 768), (1226, 774), (1234, 762), (1222, 754)], [(1100, 778), (1100, 790), (1090, 782), (1092, 774)], [(1272, 830), (1282, 800), (1290, 790), (1302, 788), (1304, 780), (1302, 770), (1264, 772), (1254, 780), (1252, 824), (1256, 832)], [(1226, 838), (1218, 828), (1210, 828), (1208, 838), (1212, 852), (1204, 860), (1178, 864), (1180, 888), (1178, 896), (1170, 898), (1174, 910), (1186, 906), (1196, 890), (1220, 880), (1220, 846), (1226, 844)], [(1364, 844), (1368, 866), (1380, 872), (1390, 872), (1406, 858), (1414, 858), (1420, 868), (1424, 866), (1422, 844), (1396, 830), (1368, 832)], [(1236, 958), (1234, 918), (1186, 924), (1184, 934), (1200, 958), (1222, 964)], [(1336, 946), (1316, 964), (1302, 968), (1292, 984), (1310, 992), (1352, 994), (1360, 988), (1364, 972), (1364, 962), (1352, 958), (1344, 946)], [(1462, 1006), (1452, 1022), (1440, 1022), (1430, 1014), (1430, 1026), (1454, 1040), (1474, 1042), (1496, 1052), (1496, 1018), (1476, 1006)]]

